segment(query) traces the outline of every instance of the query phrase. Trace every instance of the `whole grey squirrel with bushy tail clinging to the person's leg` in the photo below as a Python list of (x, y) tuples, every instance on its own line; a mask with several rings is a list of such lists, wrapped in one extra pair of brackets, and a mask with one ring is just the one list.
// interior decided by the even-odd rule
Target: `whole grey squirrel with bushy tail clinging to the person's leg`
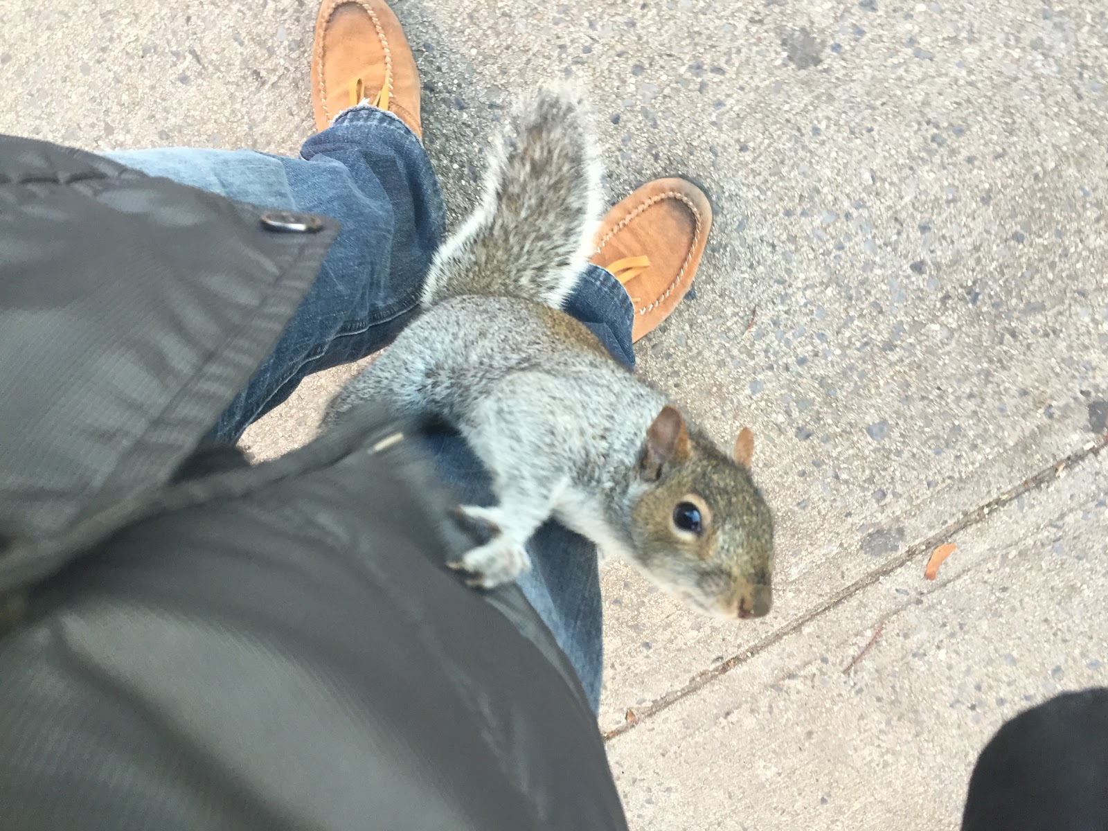
[(499, 504), (456, 509), (488, 541), (451, 567), (492, 588), (531, 567), (547, 519), (705, 613), (771, 604), (773, 524), (751, 480), (752, 434), (729, 455), (562, 311), (592, 254), (601, 165), (570, 89), (517, 106), (478, 209), (430, 266), (417, 317), (327, 408), (363, 401), (454, 427)]

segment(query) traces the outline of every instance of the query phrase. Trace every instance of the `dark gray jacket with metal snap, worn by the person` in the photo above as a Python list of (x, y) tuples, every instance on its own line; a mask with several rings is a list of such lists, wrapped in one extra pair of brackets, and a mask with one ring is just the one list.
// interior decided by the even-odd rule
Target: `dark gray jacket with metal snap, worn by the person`
[(396, 425), (197, 456), (335, 233), (0, 138), (0, 827), (625, 828)]

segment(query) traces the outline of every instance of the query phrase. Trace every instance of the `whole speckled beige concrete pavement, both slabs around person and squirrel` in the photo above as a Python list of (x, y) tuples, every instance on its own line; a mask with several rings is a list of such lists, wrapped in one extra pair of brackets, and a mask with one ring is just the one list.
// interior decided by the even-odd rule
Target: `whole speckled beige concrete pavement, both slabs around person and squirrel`
[[(755, 429), (777, 607), (724, 625), (606, 574), (602, 727), (634, 827), (955, 825), (999, 719), (1108, 661), (1108, 7), (396, 9), (453, 217), (501, 107), (562, 76), (592, 90), (613, 202), (681, 174), (717, 209), (640, 368), (720, 440)], [(0, 130), (293, 153), (314, 17), (6, 0)], [(302, 441), (334, 382), (306, 383), (252, 451)]]

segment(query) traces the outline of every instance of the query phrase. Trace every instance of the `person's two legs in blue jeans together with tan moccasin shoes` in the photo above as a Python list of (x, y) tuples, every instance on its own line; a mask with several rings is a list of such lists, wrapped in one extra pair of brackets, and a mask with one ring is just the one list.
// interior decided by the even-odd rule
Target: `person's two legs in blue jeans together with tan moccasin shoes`
[[(366, 19), (369, 10), (372, 25)], [(325, 49), (327, 39), (331, 41)], [(384, 60), (388, 55), (391, 61)], [(357, 74), (353, 83), (348, 83), (350, 73)], [(342, 224), (274, 352), (216, 424), (214, 438), (225, 441), (236, 440), (252, 421), (284, 401), (305, 376), (357, 360), (391, 341), (416, 314), (442, 236), (442, 197), (418, 137), (414, 61), (381, 0), (321, 8), (312, 80), (321, 132), (305, 143), (299, 158), (252, 151), (111, 154), (152, 175), (266, 207), (324, 214)], [(360, 105), (329, 121), (335, 109), (362, 94), (394, 112)], [(613, 208), (602, 223), (599, 265), (585, 269), (566, 302), (565, 310), (628, 369), (635, 361), (633, 326), (636, 337), (657, 326), (693, 281), (710, 208), (690, 187), (671, 179), (650, 183)], [(601, 267), (617, 264), (627, 266), (622, 274), (626, 290)], [(486, 473), (456, 433), (429, 434), (427, 445), (461, 502), (491, 501)], [(529, 553), (533, 568), (520, 586), (570, 657), (596, 710), (602, 608), (595, 547), (547, 523), (529, 543)]]

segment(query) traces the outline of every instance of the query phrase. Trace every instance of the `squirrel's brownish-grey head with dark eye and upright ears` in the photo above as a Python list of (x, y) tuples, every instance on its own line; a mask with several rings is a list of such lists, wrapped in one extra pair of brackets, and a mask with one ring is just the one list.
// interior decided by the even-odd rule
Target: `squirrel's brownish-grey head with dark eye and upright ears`
[(632, 505), (637, 565), (718, 617), (761, 617), (771, 604), (773, 520), (750, 478), (753, 434), (730, 456), (665, 407), (646, 431)]

